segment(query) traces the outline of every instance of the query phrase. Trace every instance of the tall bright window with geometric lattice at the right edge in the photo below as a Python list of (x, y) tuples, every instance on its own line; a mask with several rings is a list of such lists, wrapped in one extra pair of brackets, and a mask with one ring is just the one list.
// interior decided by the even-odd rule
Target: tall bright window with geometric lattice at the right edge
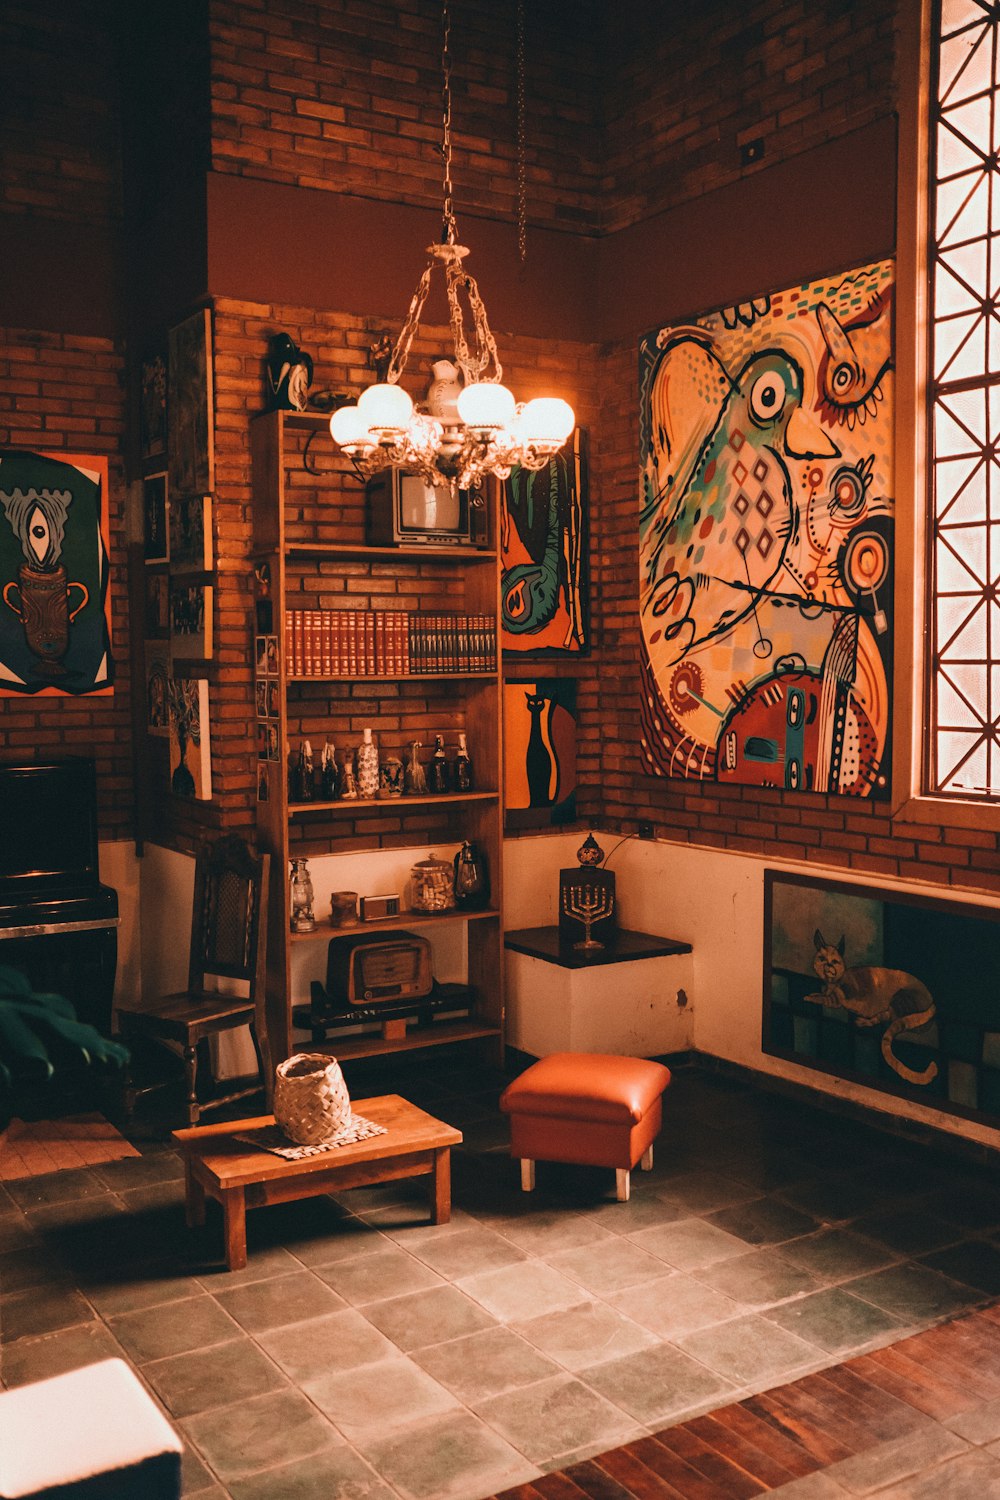
[(931, 128), (931, 790), (1000, 800), (1000, 9), (943, 0)]

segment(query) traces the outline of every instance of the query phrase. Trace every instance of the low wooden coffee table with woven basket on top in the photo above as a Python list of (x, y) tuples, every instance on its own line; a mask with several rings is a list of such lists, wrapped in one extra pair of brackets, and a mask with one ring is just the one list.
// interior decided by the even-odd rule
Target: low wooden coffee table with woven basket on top
[(451, 1148), (462, 1144), (462, 1131), (426, 1114), (399, 1094), (352, 1100), (351, 1108), (363, 1119), (385, 1125), (385, 1134), (352, 1146), (331, 1146), (298, 1161), (234, 1138), (273, 1125), (273, 1114), (193, 1125), (172, 1132), (184, 1156), (187, 1224), (205, 1222), (205, 1196), (222, 1204), (228, 1270), (246, 1266), (246, 1210), (268, 1203), (292, 1203), (343, 1188), (430, 1176), (430, 1220), (433, 1224), (448, 1222)]

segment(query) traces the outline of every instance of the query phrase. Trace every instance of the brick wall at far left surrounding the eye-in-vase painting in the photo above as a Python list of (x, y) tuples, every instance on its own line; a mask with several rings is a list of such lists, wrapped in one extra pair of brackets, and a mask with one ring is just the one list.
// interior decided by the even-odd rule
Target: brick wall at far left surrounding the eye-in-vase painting
[[(0, 758), (93, 754), (102, 838), (132, 836), (132, 735), (121, 354), (108, 339), (0, 330), (0, 447), (105, 454), (111, 642), (117, 668), (105, 698), (0, 698)], [(0, 520), (0, 524), (4, 524)]]

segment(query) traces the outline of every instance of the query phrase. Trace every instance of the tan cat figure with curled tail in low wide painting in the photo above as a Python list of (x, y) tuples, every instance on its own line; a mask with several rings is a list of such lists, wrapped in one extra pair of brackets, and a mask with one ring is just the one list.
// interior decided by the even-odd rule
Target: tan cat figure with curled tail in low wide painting
[(844, 963), (843, 938), (838, 944), (828, 944), (817, 928), (814, 942), (813, 969), (822, 981), (822, 988), (807, 994), (805, 999), (816, 1005), (840, 1005), (858, 1018), (859, 1026), (885, 1026), (882, 1056), (907, 1083), (930, 1083), (936, 1078), (934, 1060), (918, 1072), (915, 1068), (907, 1068), (892, 1050), (900, 1032), (916, 1030), (934, 1018), (934, 998), (927, 986), (904, 969), (876, 966), (849, 969)]

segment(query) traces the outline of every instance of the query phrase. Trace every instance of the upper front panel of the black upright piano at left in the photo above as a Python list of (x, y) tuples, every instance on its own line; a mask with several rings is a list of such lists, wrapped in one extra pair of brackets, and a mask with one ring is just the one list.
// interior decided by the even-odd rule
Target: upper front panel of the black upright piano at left
[(28, 900), (36, 891), (97, 884), (97, 788), (85, 756), (0, 764), (0, 891)]

